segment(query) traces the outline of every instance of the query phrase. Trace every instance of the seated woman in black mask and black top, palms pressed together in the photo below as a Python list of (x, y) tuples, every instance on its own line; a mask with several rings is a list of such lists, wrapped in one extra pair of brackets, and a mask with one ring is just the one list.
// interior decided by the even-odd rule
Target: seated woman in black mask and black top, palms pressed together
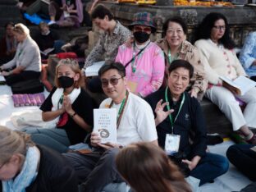
[(40, 109), (43, 121), (56, 121), (53, 129), (28, 129), (37, 144), (47, 145), (60, 153), (71, 144), (85, 139), (93, 125), (93, 100), (80, 86), (84, 82), (78, 63), (62, 59), (56, 66), (54, 88)]

